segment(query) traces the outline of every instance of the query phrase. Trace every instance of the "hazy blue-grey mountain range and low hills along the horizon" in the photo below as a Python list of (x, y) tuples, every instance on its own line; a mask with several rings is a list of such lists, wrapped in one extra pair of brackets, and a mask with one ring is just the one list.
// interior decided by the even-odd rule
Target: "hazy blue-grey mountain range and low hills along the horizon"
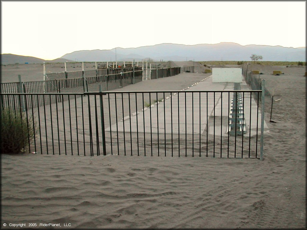
[(219, 44), (181, 45), (163, 43), (138, 48), (111, 50), (80, 50), (65, 54), (52, 61), (35, 57), (2, 54), (1, 64), (45, 62), (102, 62), (102, 61), (248, 61), (252, 54), (261, 55), (262, 61), (306, 61), (306, 47), (292, 48), (268, 45), (245, 45), (221, 42)]

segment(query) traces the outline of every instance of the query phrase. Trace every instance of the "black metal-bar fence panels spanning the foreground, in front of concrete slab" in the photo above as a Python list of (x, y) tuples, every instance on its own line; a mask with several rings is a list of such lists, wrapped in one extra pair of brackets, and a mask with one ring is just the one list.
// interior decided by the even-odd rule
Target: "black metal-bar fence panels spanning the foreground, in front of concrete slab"
[[(259, 158), (263, 124), (260, 132), (251, 94), (261, 92), (2, 93), (0, 105), (36, 124), (28, 127), (36, 132), (26, 148), (37, 154)], [(231, 104), (232, 94), (241, 94), (243, 104)], [(244, 121), (246, 132), (237, 125)]]

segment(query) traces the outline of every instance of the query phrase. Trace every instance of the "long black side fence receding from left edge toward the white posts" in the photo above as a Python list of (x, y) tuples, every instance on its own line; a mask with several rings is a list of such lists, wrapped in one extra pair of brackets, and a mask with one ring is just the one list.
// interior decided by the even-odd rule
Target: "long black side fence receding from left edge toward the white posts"
[[(121, 69), (119, 69), (121, 70)], [(46, 81), (33, 81), (33, 82), (14, 82), (14, 83), (1, 83), (2, 93), (83, 93), (83, 92), (98, 92), (99, 85), (102, 85), (102, 91), (115, 90), (124, 86), (135, 84), (142, 81), (142, 70), (119, 72), (119, 70), (106, 71), (111, 73), (109, 75), (98, 75), (93, 77), (81, 78), (65, 78), (54, 79)], [(126, 69), (128, 70), (128, 69)], [(131, 69), (129, 69), (131, 70)], [(82, 72), (82, 71), (81, 71)], [(77, 97), (80, 97), (78, 95)], [(58, 97), (58, 102), (62, 100), (67, 101), (72, 96), (65, 95), (63, 98)], [(29, 98), (26, 98), (28, 104)], [(13, 104), (14, 101), (7, 102)], [(15, 101), (16, 103), (16, 101)], [(49, 105), (49, 103), (56, 103), (55, 98), (45, 98), (43, 101), (40, 98), (38, 101), (33, 102), (33, 107)], [(25, 108), (25, 106), (24, 106)]]

